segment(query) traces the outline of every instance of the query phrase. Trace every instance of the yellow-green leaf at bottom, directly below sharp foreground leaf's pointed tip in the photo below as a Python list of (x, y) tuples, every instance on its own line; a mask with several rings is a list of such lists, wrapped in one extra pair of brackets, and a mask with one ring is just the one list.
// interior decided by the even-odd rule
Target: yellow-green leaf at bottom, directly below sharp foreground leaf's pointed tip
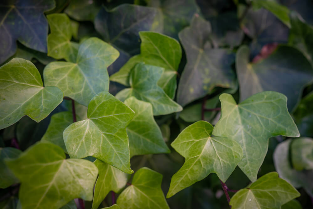
[(110, 191), (119, 193), (124, 188), (128, 180), (128, 174), (98, 159), (94, 164), (99, 170), (99, 177), (95, 185), (92, 209), (97, 209)]

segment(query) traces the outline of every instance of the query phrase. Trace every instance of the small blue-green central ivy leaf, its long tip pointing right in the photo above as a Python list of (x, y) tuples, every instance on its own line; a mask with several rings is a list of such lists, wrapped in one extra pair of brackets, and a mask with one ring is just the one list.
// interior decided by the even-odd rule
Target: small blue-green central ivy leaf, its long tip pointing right
[(128, 97), (136, 97), (144, 102), (150, 102), (153, 115), (166, 115), (182, 111), (179, 104), (170, 99), (161, 87), (157, 85), (164, 69), (138, 63), (130, 72), (129, 83), (131, 88), (118, 92), (116, 98), (125, 101)]

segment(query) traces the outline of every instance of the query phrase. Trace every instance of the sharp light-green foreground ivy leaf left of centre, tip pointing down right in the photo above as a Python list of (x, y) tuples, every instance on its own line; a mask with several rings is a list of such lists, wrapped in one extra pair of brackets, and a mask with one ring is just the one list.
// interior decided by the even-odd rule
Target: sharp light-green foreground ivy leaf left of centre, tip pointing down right
[(134, 114), (110, 93), (98, 93), (88, 105), (88, 119), (72, 123), (63, 132), (70, 157), (92, 156), (125, 173), (133, 173), (125, 128)]

